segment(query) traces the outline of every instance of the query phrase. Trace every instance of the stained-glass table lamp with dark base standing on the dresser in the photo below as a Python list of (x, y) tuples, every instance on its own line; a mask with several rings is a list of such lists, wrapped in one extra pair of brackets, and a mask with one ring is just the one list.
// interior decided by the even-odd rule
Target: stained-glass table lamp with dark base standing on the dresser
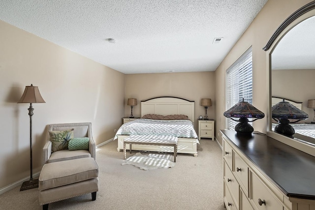
[[(265, 114), (258, 109), (256, 109), (249, 102), (245, 102), (244, 98), (241, 102), (238, 102), (234, 106), (232, 106), (229, 110), (223, 113), (224, 117), (230, 118), (234, 121), (238, 121), (239, 123), (235, 126), (235, 131), (241, 134), (252, 134), (254, 128), (249, 122), (262, 119), (265, 117)], [(233, 118), (239, 118), (239, 120), (235, 120)], [(254, 120), (248, 120), (248, 118), (255, 118)]]

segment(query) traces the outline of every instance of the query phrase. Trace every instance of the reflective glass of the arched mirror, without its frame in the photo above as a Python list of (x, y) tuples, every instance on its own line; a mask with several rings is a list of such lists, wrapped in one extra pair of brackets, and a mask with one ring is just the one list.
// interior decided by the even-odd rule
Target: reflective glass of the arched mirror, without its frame
[[(308, 107), (308, 100), (315, 99), (314, 34), (315, 16), (289, 30), (271, 54), (272, 105), (284, 98), (307, 113), (308, 119), (291, 123), (291, 126), (295, 130), (293, 137), (310, 137), (314, 139), (312, 144), (315, 144), (315, 123), (311, 123), (314, 109)], [(272, 131), (276, 125), (276, 122), (272, 122)]]

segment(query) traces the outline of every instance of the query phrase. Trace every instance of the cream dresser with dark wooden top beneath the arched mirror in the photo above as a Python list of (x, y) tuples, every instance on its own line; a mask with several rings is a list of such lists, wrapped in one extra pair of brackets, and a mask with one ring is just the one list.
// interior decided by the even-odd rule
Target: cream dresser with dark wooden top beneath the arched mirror
[(315, 210), (315, 157), (264, 134), (221, 130), (227, 210)]

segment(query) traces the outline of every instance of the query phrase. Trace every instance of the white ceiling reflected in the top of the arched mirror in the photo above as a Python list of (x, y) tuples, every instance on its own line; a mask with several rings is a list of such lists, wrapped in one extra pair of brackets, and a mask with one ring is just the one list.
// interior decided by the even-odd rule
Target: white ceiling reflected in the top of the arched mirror
[(315, 16), (289, 30), (272, 53), (272, 69), (315, 69)]

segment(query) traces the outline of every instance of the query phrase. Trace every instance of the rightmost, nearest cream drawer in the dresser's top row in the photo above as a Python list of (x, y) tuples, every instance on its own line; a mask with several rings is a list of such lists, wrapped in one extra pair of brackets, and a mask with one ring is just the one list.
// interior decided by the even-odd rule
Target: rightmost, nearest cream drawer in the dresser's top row
[(251, 202), (258, 210), (283, 210), (283, 205), (275, 198), (267, 186), (254, 174), (251, 175)]

